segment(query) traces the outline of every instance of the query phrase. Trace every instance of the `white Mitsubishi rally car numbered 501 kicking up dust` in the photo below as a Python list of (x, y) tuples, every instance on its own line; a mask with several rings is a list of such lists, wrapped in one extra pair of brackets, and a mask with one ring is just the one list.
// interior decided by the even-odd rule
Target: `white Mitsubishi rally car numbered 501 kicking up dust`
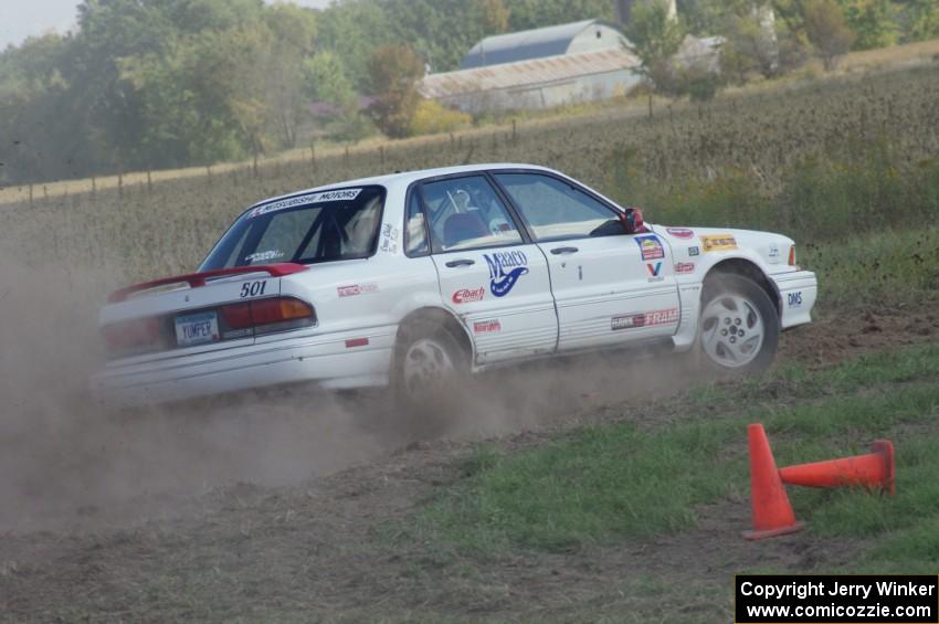
[(122, 405), (292, 382), (419, 400), (458, 373), (652, 345), (755, 372), (815, 295), (779, 234), (644, 224), (529, 165), (394, 173), (265, 200), (197, 273), (114, 293), (93, 384)]

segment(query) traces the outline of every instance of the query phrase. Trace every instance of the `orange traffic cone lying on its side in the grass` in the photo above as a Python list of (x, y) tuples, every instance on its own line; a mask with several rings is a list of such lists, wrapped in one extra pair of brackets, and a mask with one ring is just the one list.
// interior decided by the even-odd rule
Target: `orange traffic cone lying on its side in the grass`
[(877, 440), (867, 455), (844, 459), (799, 464), (780, 468), (784, 483), (809, 487), (864, 486), (896, 494), (894, 483), (894, 445), (888, 440)]

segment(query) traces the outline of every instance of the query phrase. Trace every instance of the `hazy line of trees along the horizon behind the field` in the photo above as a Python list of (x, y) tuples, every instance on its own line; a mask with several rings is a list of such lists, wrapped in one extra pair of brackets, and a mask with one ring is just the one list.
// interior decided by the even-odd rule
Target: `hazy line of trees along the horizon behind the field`
[[(675, 32), (722, 34), (734, 71), (769, 74), (813, 45), (813, 2), (835, 6), (853, 49), (939, 35), (935, 0), (773, 0), (783, 63), (760, 57), (752, 0), (678, 2)], [(76, 10), (72, 32), (0, 52), (0, 183), (244, 159), (310, 133), (440, 130), (464, 116), (420, 99), (413, 85), (426, 70), (457, 68), (492, 34), (615, 19), (610, 0), (345, 0), (325, 10), (83, 0)], [(650, 41), (661, 34), (652, 28)]]

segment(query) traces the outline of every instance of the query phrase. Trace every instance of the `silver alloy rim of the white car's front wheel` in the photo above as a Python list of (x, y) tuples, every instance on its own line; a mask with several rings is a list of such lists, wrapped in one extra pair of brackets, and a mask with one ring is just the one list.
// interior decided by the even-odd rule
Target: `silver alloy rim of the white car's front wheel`
[(721, 367), (752, 362), (763, 346), (764, 332), (759, 308), (741, 295), (720, 295), (701, 314), (701, 348)]

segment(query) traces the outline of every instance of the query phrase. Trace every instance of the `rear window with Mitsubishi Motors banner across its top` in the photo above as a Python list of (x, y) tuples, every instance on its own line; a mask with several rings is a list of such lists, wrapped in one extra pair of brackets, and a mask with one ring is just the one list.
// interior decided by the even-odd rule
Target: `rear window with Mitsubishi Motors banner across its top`
[(234, 222), (199, 271), (374, 253), (384, 189), (363, 187), (295, 195), (256, 205)]

